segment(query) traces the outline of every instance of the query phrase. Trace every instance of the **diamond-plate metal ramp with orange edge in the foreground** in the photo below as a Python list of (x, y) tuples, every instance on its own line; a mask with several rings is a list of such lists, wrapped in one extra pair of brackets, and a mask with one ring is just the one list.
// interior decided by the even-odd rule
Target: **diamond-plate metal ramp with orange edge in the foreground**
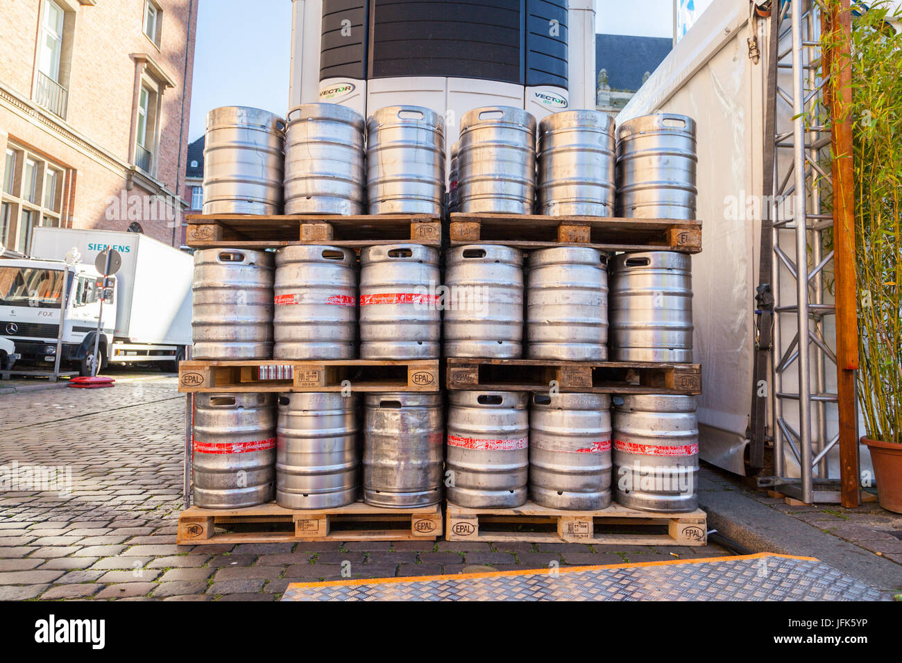
[(880, 592), (814, 557), (759, 553), (289, 585), (282, 601), (879, 601)]

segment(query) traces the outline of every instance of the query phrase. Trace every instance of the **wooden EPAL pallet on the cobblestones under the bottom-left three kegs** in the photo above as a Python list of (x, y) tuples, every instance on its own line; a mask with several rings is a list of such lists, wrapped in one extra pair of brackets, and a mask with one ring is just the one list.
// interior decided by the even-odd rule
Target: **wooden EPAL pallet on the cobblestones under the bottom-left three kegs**
[[(226, 529), (226, 531), (216, 531)], [(442, 507), (384, 509), (354, 502), (336, 509), (295, 511), (275, 502), (246, 509), (179, 513), (176, 545), (286, 541), (434, 541), (442, 534)]]

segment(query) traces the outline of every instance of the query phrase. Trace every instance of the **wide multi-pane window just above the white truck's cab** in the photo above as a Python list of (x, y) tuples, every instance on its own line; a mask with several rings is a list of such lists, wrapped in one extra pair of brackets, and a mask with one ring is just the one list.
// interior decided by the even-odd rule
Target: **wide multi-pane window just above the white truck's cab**
[(28, 253), (32, 228), (62, 225), (65, 170), (12, 142), (5, 156), (0, 242)]

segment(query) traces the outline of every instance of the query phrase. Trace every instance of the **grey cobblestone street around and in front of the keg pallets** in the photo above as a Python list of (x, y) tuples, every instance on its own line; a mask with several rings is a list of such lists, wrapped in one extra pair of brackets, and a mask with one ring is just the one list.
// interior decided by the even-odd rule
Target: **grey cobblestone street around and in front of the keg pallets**
[(66, 465), (71, 493), (0, 493), (0, 600), (272, 601), (292, 582), (731, 553), (437, 541), (176, 546), (184, 397), (174, 377), (0, 397), (0, 465)]

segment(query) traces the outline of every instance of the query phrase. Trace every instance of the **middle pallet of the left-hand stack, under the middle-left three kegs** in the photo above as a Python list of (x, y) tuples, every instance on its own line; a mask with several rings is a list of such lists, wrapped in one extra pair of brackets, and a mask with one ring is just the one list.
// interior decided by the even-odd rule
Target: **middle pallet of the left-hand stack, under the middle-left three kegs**
[(179, 364), (179, 391), (438, 391), (438, 369), (437, 359), (191, 360)]

